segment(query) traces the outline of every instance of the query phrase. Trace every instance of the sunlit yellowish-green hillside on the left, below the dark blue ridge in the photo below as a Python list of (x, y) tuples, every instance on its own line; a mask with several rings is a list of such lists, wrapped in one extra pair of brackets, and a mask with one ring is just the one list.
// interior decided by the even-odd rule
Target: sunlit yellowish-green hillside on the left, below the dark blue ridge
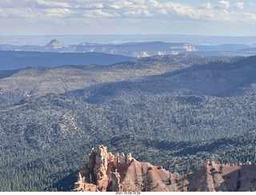
[(30, 96), (62, 94), (89, 86), (134, 80), (191, 66), (190, 63), (178, 62), (176, 58), (190, 62), (190, 58), (194, 59), (194, 56), (184, 54), (175, 58), (166, 56), (156, 60), (145, 58), (113, 66), (29, 67), (22, 70), (5, 70), (0, 74), (0, 105), (18, 102)]

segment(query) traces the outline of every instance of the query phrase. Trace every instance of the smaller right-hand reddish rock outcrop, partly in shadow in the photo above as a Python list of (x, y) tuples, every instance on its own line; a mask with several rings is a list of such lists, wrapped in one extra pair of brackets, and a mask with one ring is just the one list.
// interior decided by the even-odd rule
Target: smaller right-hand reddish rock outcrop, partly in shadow
[(205, 166), (188, 176), (187, 191), (246, 192), (256, 190), (256, 165), (218, 165), (206, 161)]

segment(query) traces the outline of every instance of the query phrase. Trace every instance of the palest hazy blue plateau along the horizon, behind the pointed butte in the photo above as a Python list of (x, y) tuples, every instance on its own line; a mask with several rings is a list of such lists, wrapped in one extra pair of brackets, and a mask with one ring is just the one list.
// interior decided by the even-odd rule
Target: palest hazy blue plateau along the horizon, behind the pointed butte
[(36, 45), (45, 46), (49, 40), (57, 39), (63, 45), (74, 45), (81, 42), (102, 44), (121, 44), (125, 42), (190, 42), (194, 46), (222, 44), (240, 44), (251, 47), (256, 46), (256, 36), (204, 36), (188, 34), (54, 34), (54, 35), (0, 35), (0, 43), (19, 46)]

